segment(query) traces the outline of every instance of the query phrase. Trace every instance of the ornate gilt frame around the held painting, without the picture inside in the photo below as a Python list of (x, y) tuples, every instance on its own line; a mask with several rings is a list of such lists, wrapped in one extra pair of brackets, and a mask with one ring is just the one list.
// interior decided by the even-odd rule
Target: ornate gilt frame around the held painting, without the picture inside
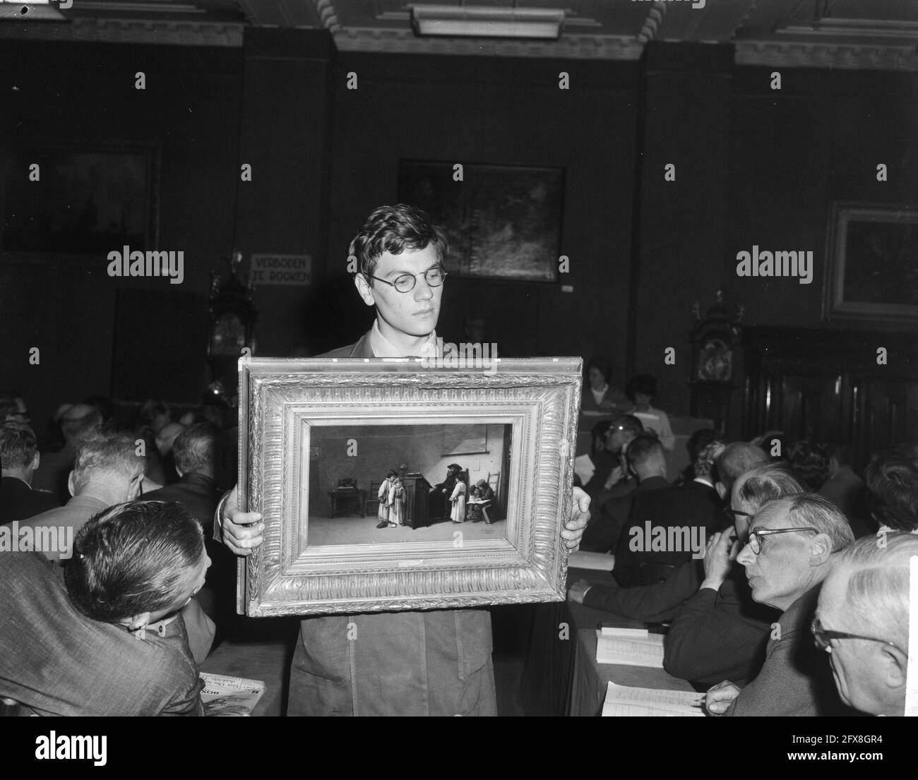
[[(240, 559), (237, 607), (252, 617), (561, 601), (579, 358), (499, 360), (491, 371), (414, 358), (240, 360), (240, 506), (264, 540)], [(308, 547), (309, 421), (509, 422), (506, 539)], [(303, 528), (304, 522), (306, 529)]]

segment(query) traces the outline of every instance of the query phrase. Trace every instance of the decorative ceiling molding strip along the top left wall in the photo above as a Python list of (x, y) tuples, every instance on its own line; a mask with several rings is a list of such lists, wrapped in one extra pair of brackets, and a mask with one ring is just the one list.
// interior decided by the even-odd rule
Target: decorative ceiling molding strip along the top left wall
[(191, 21), (75, 18), (65, 24), (4, 24), (0, 40), (89, 40), (166, 46), (241, 47), (245, 25)]

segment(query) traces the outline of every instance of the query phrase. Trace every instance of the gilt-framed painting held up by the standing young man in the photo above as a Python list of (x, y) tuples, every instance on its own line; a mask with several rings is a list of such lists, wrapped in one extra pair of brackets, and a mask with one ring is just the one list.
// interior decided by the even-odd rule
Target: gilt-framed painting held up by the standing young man
[(241, 359), (240, 506), (265, 529), (240, 611), (563, 600), (580, 377), (578, 358)]

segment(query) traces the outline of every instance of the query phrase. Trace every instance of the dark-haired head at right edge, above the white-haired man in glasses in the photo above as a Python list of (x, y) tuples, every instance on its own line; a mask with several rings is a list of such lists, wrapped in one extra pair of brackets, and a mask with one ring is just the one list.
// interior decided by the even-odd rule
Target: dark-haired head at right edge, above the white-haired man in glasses
[(864, 472), (867, 504), (880, 531), (918, 529), (918, 447), (874, 453)]

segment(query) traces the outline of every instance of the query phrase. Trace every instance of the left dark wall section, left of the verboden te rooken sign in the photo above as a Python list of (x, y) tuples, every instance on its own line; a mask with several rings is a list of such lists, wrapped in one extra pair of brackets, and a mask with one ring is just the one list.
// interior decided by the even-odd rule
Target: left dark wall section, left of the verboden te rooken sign
[[(134, 89), (139, 71), (146, 74), (145, 90)], [(240, 51), (4, 41), (0, 95), (6, 148), (154, 145), (161, 161), (159, 248), (185, 252), (185, 281), (176, 285), (109, 278), (105, 253), (7, 254), (0, 268), (0, 384), (27, 397), (39, 432), (62, 402), (107, 395), (113, 370), (146, 373), (151, 396), (195, 400), (207, 384), (207, 310), (199, 304), (208, 272), (233, 241)], [(35, 186), (54, 183), (46, 175)], [(118, 291), (140, 289), (158, 293), (152, 299), (160, 302), (136, 311), (122, 306), (119, 327), (142, 335), (151, 349), (136, 349), (129, 364), (113, 365)], [(198, 304), (194, 315), (173, 317), (172, 309), (188, 300)], [(40, 349), (37, 366), (28, 363), (33, 346)], [(175, 376), (184, 380), (176, 383)]]

